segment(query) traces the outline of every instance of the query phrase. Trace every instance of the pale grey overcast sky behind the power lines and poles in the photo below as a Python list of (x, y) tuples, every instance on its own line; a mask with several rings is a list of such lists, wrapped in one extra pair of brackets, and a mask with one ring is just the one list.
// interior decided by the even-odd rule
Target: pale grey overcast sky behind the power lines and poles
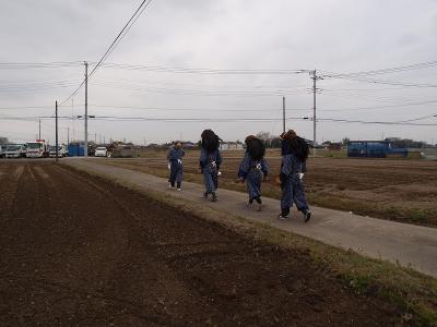
[[(0, 64), (97, 61), (140, 0), (0, 0)], [(107, 63), (215, 70), (314, 70), (318, 81), (318, 142), (388, 136), (437, 142), (437, 126), (377, 125), (326, 119), (403, 121), (437, 113), (436, 87), (408, 87), (332, 78), (437, 60), (436, 0), (154, 0)], [(92, 68), (92, 66), (91, 66)], [(84, 66), (0, 69), (0, 136), (31, 141), (34, 121), (49, 117), (82, 82)], [(371, 78), (437, 85), (437, 66)], [(88, 114), (151, 119), (225, 119), (226, 122), (90, 120), (90, 140), (135, 143), (198, 141), (205, 128), (223, 140), (287, 129), (312, 138), (312, 81), (300, 74), (201, 74), (101, 68), (88, 86)], [(411, 105), (409, 105), (411, 104)], [(46, 107), (26, 108), (23, 107)], [(9, 109), (8, 109), (9, 108)], [(153, 110), (152, 110), (153, 109)], [(84, 113), (83, 88), (60, 116)], [(237, 121), (231, 121), (237, 119)], [(265, 119), (241, 122), (238, 119)], [(415, 123), (437, 123), (426, 118)], [(42, 137), (54, 141), (54, 120)], [(61, 140), (83, 140), (82, 120), (62, 120)], [(99, 136), (102, 135), (102, 136)]]

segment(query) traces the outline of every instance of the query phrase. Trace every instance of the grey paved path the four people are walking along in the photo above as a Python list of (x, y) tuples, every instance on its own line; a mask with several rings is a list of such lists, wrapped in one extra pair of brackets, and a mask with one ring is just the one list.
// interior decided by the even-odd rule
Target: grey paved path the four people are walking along
[(344, 211), (314, 207), (310, 222), (304, 223), (300, 215), (293, 211), (290, 221), (276, 218), (280, 203), (264, 198), (262, 213), (246, 207), (245, 193), (218, 190), (218, 202), (205, 201), (202, 185), (184, 183), (182, 192), (167, 189), (165, 179), (111, 167), (98, 162), (98, 159), (63, 159), (62, 162), (78, 169), (110, 177), (128, 182), (144, 190), (154, 190), (194, 203), (201, 203), (221, 211), (236, 214), (248, 219), (262, 221), (276, 228), (321, 241), (345, 250), (354, 250), (369, 257), (388, 259), (403, 266), (437, 277), (437, 228), (420, 227), (394, 221), (357, 216)]

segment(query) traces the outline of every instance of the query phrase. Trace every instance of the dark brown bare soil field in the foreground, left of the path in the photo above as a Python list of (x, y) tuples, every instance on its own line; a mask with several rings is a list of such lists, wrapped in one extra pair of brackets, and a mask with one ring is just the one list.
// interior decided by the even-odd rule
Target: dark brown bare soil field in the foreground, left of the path
[(51, 162), (0, 164), (0, 325), (391, 326), (281, 250)]

